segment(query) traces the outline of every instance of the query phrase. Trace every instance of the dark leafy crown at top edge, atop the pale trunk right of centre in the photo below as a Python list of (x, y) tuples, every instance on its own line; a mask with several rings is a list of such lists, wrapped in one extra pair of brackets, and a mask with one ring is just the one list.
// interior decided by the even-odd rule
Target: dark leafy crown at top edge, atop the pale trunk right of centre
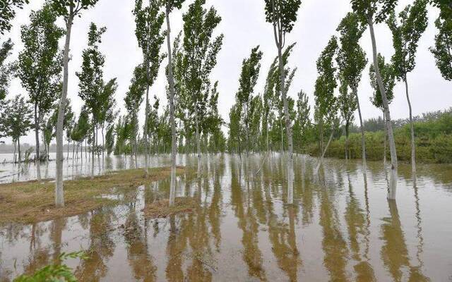
[(264, 0), (266, 3), (266, 21), (281, 28), (283, 34), (290, 33), (297, 21), (301, 0)]

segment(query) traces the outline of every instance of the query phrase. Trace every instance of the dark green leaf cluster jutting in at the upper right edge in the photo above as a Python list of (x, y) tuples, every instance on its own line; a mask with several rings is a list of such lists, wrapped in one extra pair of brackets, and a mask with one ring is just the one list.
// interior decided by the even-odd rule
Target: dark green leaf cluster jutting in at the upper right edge
[(451, 20), (437, 18), (435, 26), (438, 34), (435, 35), (435, 46), (430, 51), (435, 57), (436, 66), (446, 80), (452, 80), (452, 23)]

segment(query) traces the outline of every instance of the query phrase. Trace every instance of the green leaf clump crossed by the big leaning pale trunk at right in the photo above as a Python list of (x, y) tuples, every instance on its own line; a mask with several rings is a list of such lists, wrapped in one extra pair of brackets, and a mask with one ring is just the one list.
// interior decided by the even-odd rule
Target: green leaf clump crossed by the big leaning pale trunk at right
[[(381, 56), (381, 54), (378, 55), (378, 61), (381, 79), (383, 80), (384, 90), (386, 91), (386, 98), (388, 99), (388, 104), (391, 104), (394, 98), (394, 85), (396, 85), (396, 75), (394, 68), (391, 63), (385, 63), (384, 57)], [(377, 108), (383, 109), (383, 99), (381, 98), (379, 85), (376, 82), (376, 73), (373, 63), (369, 68), (369, 77), (371, 87), (374, 89), (374, 94), (371, 97), (371, 102)]]

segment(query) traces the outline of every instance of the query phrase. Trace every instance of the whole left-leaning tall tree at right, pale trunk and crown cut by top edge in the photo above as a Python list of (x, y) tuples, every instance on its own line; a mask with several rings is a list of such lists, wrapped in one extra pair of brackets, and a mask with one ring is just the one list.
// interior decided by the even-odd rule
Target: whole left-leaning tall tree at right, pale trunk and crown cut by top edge
[[(376, 39), (374, 32), (374, 24), (383, 23), (388, 17), (391, 11), (397, 4), (397, 0), (351, 0), (352, 8), (359, 16), (361, 22), (367, 23), (369, 26), (369, 32), (372, 42), (372, 55), (375, 66), (376, 82), (379, 86), (381, 98), (383, 101), (384, 116), (386, 118), (386, 127), (388, 128), (389, 149), (391, 151), (391, 177), (396, 176), (397, 171), (397, 152), (396, 142), (394, 142), (393, 125), (391, 122), (391, 113), (389, 111), (388, 97), (384, 89), (383, 80), (378, 66)], [(391, 183), (396, 183), (395, 179), (392, 179)], [(395, 190), (395, 187), (390, 187), (390, 190)], [(391, 197), (393, 193), (388, 193), (388, 197)]]

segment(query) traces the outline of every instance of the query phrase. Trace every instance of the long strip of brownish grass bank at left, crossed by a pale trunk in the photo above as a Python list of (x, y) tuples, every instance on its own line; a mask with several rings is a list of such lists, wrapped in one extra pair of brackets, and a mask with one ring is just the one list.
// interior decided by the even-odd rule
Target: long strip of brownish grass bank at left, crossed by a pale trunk
[[(178, 168), (180, 173), (182, 168)], [(101, 197), (118, 190), (137, 188), (169, 177), (171, 168), (150, 168), (149, 176), (143, 169), (129, 169), (106, 173), (95, 178), (77, 178), (64, 181), (65, 207), (54, 205), (54, 182), (27, 181), (0, 185), (0, 222), (32, 223), (59, 216), (82, 214), (104, 205), (119, 204), (125, 200)]]

